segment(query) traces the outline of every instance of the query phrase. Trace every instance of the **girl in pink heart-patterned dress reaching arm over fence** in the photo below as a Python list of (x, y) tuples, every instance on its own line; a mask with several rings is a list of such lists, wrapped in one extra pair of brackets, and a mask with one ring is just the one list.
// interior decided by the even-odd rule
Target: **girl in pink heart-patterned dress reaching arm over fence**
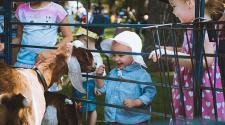
[[(170, 3), (173, 7), (173, 13), (180, 19), (181, 23), (191, 23), (195, 19), (195, 0), (163, 0), (164, 2)], [(209, 21), (212, 20), (211, 16), (213, 12), (217, 12), (217, 9), (221, 7), (222, 0), (206, 0), (205, 1), (205, 15), (204, 18)], [(184, 33), (184, 41), (181, 48), (178, 49), (178, 55), (186, 55), (190, 56), (192, 52), (192, 39), (193, 39), (193, 30), (187, 30)], [(189, 44), (189, 45), (188, 45)], [(190, 46), (190, 48), (189, 48)], [(205, 53), (207, 54), (215, 54), (216, 53), (216, 43), (210, 42), (207, 32), (205, 33), (204, 45)], [(161, 55), (160, 55), (161, 51)], [(173, 47), (160, 47), (158, 50), (154, 50), (149, 55), (149, 58), (154, 62), (158, 61), (160, 56), (167, 53), (168, 55), (175, 55), (173, 51)], [(215, 65), (215, 57), (206, 57), (206, 60), (203, 58), (203, 78), (202, 85), (203, 87), (214, 87), (216, 84), (216, 88), (222, 88), (221, 85), (221, 76), (220, 69), (218, 64)], [(175, 64), (175, 69), (177, 64), (175, 63), (175, 59), (172, 59), (172, 62)], [(218, 61), (217, 61), (218, 62)], [(179, 75), (175, 70), (174, 73), (174, 86), (179, 86), (179, 82), (181, 82), (182, 87), (193, 88), (193, 74), (192, 74), (192, 63), (191, 59), (179, 58)], [(215, 69), (216, 68), (216, 69)], [(209, 74), (209, 75), (208, 75)], [(209, 77), (210, 76), (210, 77)], [(180, 77), (180, 78), (179, 78)], [(214, 77), (216, 81), (214, 81)], [(181, 80), (181, 81), (179, 81)], [(212, 84), (212, 86), (211, 86)], [(193, 100), (193, 89), (183, 89), (183, 100), (184, 106), (182, 106), (181, 95), (179, 89), (172, 89), (172, 99), (175, 116), (183, 116), (183, 111), (185, 111), (185, 115), (187, 119), (193, 119), (193, 111), (194, 111), (194, 100)], [(203, 89), (202, 90), (202, 118), (203, 119), (215, 119), (215, 109), (213, 104), (213, 94), (211, 89)], [(224, 97), (222, 92), (216, 92), (216, 106), (217, 106), (217, 114), (218, 120), (225, 120), (225, 106), (224, 106)], [(184, 109), (184, 110), (183, 110)]]

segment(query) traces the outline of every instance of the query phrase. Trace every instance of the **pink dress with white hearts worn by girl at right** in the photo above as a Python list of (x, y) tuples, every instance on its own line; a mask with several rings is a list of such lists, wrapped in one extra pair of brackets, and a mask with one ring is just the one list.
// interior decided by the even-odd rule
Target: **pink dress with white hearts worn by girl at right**
[[(187, 39), (188, 38), (188, 39)], [(192, 47), (192, 31), (187, 31), (187, 36), (185, 33), (184, 42), (183, 42), (183, 52), (190, 54), (191, 49), (189, 49), (188, 44)], [(216, 88), (222, 88), (221, 83), (221, 75), (220, 69), (218, 64), (213, 63), (212, 65), (208, 66), (210, 78), (208, 76), (208, 71), (203, 71), (203, 84), (202, 86), (211, 87), (210, 79), (212, 84), (216, 84)], [(216, 72), (215, 69), (216, 68)], [(216, 73), (216, 74), (215, 74)], [(214, 82), (214, 76), (216, 77), (216, 81)], [(186, 67), (180, 66), (180, 77), (181, 77), (181, 84), (183, 87), (190, 87), (193, 88), (192, 85), (192, 70)], [(179, 78), (178, 73), (174, 73), (174, 85), (179, 86)], [(184, 94), (184, 104), (185, 104), (185, 113), (187, 119), (193, 119), (193, 91), (190, 89), (183, 89)], [(180, 93), (178, 89), (172, 89), (172, 98), (173, 98), (173, 106), (175, 116), (182, 116), (182, 105), (180, 99)], [(217, 114), (219, 121), (225, 121), (225, 106), (224, 106), (224, 97), (222, 92), (216, 92), (216, 105), (217, 105)], [(211, 90), (203, 90), (202, 91), (202, 118), (203, 119), (215, 119), (215, 109), (213, 105), (213, 95)]]

